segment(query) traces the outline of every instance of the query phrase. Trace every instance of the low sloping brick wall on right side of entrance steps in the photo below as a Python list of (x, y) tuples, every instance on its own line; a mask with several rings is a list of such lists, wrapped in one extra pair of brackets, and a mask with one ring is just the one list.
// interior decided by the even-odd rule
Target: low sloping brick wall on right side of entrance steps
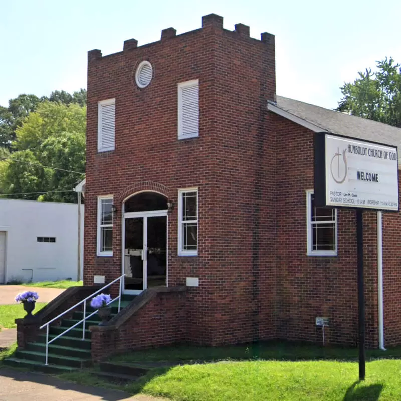
[(91, 328), (92, 359), (126, 352), (128, 349), (165, 346), (185, 341), (184, 292), (158, 293), (116, 330)]

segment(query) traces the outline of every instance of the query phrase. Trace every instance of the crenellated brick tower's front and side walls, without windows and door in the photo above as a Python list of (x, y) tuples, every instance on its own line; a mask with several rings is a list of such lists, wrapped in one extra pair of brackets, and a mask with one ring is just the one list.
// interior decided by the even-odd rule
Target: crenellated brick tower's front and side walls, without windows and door
[[(177, 205), (179, 188), (197, 186), (197, 257), (177, 257), (177, 208), (168, 217), (168, 284), (199, 278), (187, 296), (188, 339), (197, 343), (274, 333), (274, 184), (264, 163), (273, 155), (265, 131), (266, 100), (275, 93), (274, 37), (259, 41), (248, 32), (241, 25), (223, 30), (212, 16), (202, 29), (162, 42), (102, 58), (89, 52), (84, 281), (121, 274), (120, 218), (113, 257), (96, 257), (97, 196), (113, 194), (120, 216), (124, 198), (138, 188), (158, 188)], [(133, 75), (142, 60), (154, 75), (139, 89)], [(192, 79), (199, 79), (200, 134), (178, 141), (177, 84)], [(108, 98), (116, 98), (116, 149), (98, 154), (97, 102)]]

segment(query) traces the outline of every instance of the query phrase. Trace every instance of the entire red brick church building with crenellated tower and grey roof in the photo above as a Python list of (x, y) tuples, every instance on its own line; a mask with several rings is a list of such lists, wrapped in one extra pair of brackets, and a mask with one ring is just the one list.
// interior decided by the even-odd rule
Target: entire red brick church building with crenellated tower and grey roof
[[(294, 66), (295, 68), (295, 66)], [(202, 27), (88, 53), (84, 284), (137, 295), (113, 345), (357, 341), (355, 212), (313, 197), (313, 137), (401, 129), (276, 95), (274, 36)], [(401, 219), (364, 213), (366, 341), (401, 343)]]

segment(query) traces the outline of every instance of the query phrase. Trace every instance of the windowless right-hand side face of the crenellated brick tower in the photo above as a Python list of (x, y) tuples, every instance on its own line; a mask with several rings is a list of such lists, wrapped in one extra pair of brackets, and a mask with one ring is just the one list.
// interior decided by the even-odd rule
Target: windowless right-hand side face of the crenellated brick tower
[(219, 37), (215, 230), (209, 307), (214, 344), (274, 336), (274, 138), (266, 101), (275, 94), (274, 37)]

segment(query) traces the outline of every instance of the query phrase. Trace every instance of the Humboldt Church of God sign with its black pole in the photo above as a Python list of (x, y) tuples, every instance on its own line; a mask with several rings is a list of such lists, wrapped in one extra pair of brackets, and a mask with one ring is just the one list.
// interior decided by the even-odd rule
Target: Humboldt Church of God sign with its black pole
[(364, 380), (363, 210), (399, 211), (397, 147), (315, 133), (314, 196), (317, 207), (356, 211), (359, 380)]

